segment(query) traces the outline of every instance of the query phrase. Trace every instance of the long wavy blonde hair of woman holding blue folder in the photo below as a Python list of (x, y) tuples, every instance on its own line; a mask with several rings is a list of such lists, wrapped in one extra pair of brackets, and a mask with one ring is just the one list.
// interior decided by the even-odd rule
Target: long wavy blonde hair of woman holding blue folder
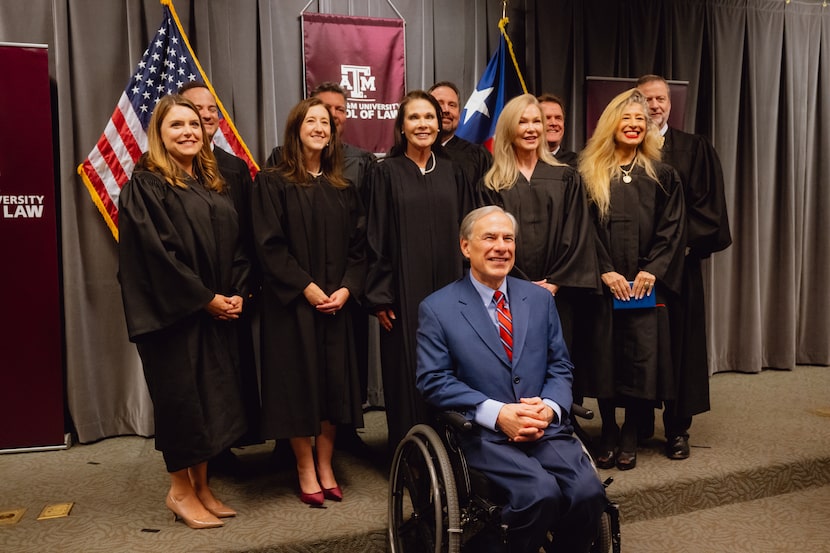
[(646, 135), (637, 147), (635, 164), (642, 167), (646, 174), (658, 181), (654, 162), (661, 159), (660, 133), (651, 122), (645, 96), (632, 88), (617, 95), (599, 117), (594, 135), (588, 140), (585, 149), (579, 154), (579, 172), (588, 192), (588, 199), (596, 204), (602, 220), (608, 216), (611, 208), (611, 181), (622, 175), (616, 154), (616, 133), (622, 121), (623, 111), (631, 104), (643, 109), (646, 118)]

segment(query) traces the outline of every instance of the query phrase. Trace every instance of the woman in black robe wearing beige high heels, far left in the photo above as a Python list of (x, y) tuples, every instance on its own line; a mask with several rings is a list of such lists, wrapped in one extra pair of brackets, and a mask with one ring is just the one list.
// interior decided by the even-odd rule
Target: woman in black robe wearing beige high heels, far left
[(245, 431), (234, 321), (249, 263), (196, 107), (162, 98), (147, 140), (119, 198), (118, 276), (171, 476), (167, 507), (212, 528), (236, 514), (208, 487), (207, 461)]

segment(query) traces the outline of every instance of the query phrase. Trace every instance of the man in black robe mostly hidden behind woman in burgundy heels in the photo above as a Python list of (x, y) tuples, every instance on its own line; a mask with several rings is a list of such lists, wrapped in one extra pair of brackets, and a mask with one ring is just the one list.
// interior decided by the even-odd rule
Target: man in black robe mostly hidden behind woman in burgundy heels
[[(347, 111), (346, 111), (346, 91), (332, 81), (326, 81), (317, 85), (311, 92), (315, 98), (319, 98), (326, 104), (326, 107), (331, 113), (334, 120), (334, 126), (337, 129), (337, 136), (342, 137), (346, 130)], [(363, 205), (366, 205), (366, 175), (369, 168), (375, 163), (375, 155), (357, 146), (347, 144), (340, 140), (340, 147), (343, 149), (343, 176), (352, 183), (352, 186), (358, 192)], [(276, 146), (271, 155), (265, 161), (265, 167), (276, 167), (282, 159), (282, 147)], [(358, 375), (360, 377), (361, 399), (363, 403), (368, 400), (368, 386), (369, 386), (369, 334), (378, 334), (377, 319), (370, 317), (366, 310), (356, 301), (349, 302), (348, 310), (352, 316), (352, 327), (354, 332), (355, 352), (357, 354)], [(380, 354), (372, 356), (372, 359), (379, 358)], [(380, 368), (373, 369), (376, 373), (380, 373)], [(359, 456), (369, 456), (372, 454), (371, 450), (360, 439), (354, 426), (346, 425), (338, 428), (335, 437), (335, 447), (337, 449), (348, 451)], [(279, 452), (277, 455), (281, 455)]]

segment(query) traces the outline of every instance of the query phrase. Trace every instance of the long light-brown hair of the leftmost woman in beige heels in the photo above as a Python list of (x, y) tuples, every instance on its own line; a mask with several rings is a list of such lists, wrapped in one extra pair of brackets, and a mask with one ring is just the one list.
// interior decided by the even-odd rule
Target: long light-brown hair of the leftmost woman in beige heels
[(199, 110), (196, 109), (193, 102), (179, 94), (164, 96), (156, 104), (153, 115), (150, 117), (150, 123), (147, 125), (147, 156), (143, 161), (142, 168), (161, 175), (171, 186), (187, 188), (187, 181), (190, 176), (173, 161), (161, 138), (161, 125), (174, 106), (184, 106), (192, 110), (199, 120), (199, 127), (202, 129), (202, 149), (193, 159), (193, 174), (201, 179), (205, 188), (222, 192), (225, 188), (225, 181), (219, 173), (216, 158), (210, 149), (210, 142), (202, 124), (202, 118), (199, 116)]

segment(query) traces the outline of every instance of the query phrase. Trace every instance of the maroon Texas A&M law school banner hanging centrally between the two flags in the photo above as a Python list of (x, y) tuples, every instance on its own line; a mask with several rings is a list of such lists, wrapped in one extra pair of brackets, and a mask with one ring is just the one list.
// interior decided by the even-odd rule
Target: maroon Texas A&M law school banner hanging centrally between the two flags
[(346, 91), (344, 142), (386, 152), (406, 90), (402, 19), (304, 13), (306, 94), (325, 81)]

